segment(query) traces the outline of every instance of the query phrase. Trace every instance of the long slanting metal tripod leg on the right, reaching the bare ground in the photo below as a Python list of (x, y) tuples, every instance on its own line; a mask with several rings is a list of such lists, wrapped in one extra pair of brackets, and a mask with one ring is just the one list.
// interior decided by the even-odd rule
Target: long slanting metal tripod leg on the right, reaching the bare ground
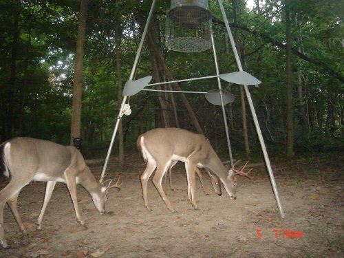
[[(224, 18), (224, 23), (226, 25), (226, 29), (227, 29), (227, 32), (228, 32), (230, 43), (231, 43), (232, 48), (233, 48), (235, 60), (237, 61), (237, 66), (239, 68), (239, 71), (243, 71), (239, 55), (237, 54), (237, 48), (235, 47), (235, 42), (234, 42), (234, 39), (233, 39), (233, 35), (232, 35), (232, 32), (230, 32), (228, 20), (227, 20), (227, 17), (226, 17), (226, 12), (224, 12), (224, 6), (222, 5), (222, 0), (218, 0), (218, 2), (219, 2), (219, 8), (220, 8), (220, 10), (222, 12), (222, 17)], [(280, 197), (279, 197), (279, 192), (277, 190), (277, 185), (276, 185), (276, 182), (275, 182), (275, 177), (274, 177), (274, 174), (272, 173), (270, 159), (268, 157), (268, 151), (266, 151), (266, 146), (265, 146), (265, 143), (264, 143), (263, 135), (262, 135), (261, 129), (259, 127), (259, 122), (258, 122), (257, 114), (255, 112), (255, 107), (253, 105), (250, 92), (248, 91), (248, 86), (244, 85), (244, 89), (245, 89), (246, 97), (247, 97), (247, 100), (248, 100), (248, 105), (250, 106), (250, 109), (251, 109), (252, 118), (253, 118), (253, 121), (255, 122), (255, 127), (256, 127), (256, 130), (257, 130), (259, 142), (261, 144), (261, 150), (263, 151), (263, 154), (264, 154), (264, 160), (266, 162), (266, 167), (267, 167), (268, 173), (270, 175), (270, 182), (271, 182), (271, 185), (272, 185), (272, 190), (274, 191), (274, 194), (275, 194), (275, 199), (276, 199), (276, 202), (277, 202), (277, 207), (279, 208), (279, 213), (281, 214), (281, 217), (283, 219), (285, 217), (285, 215), (284, 215), (282, 204), (281, 204), (281, 200), (280, 200)]]

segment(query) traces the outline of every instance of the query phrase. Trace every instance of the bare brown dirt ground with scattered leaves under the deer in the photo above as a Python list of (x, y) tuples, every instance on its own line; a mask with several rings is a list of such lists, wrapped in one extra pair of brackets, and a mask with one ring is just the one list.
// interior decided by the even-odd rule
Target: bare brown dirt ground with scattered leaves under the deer
[[(210, 195), (197, 179), (198, 210), (187, 200), (182, 163), (173, 173), (175, 190), (166, 194), (176, 212), (166, 209), (151, 180), (148, 196), (153, 211), (144, 208), (140, 174), (145, 163), (137, 153), (127, 166), (109, 163), (122, 174), (122, 189), (112, 189), (106, 215), (78, 186), (78, 202), (86, 224), (75, 219), (65, 184), (58, 183), (43, 218), (35, 222), (43, 203), (45, 183), (33, 182), (19, 195), (19, 213), (30, 235), (21, 235), (10, 208), (5, 208), (6, 239), (12, 246), (0, 257), (344, 257), (344, 155), (308, 155), (272, 162), (286, 217), (281, 219), (264, 166), (252, 180), (239, 178), (237, 200), (215, 194), (204, 173)], [(101, 165), (91, 166), (99, 178)], [(0, 178), (0, 189), (8, 182)]]

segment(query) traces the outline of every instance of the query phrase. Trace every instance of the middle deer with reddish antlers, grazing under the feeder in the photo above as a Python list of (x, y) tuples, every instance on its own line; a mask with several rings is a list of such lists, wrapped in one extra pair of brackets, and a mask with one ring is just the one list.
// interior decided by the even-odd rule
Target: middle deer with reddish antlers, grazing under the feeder
[[(235, 175), (249, 177), (244, 168), (235, 169), (235, 164), (229, 170), (222, 164), (210, 142), (202, 134), (193, 133), (179, 128), (157, 128), (142, 133), (137, 140), (138, 149), (141, 151), (147, 167), (140, 176), (144, 206), (151, 211), (147, 197), (147, 182), (153, 172), (153, 184), (162, 197), (164, 204), (171, 212), (175, 209), (162, 189), (162, 178), (171, 162), (182, 161), (185, 163), (186, 178), (188, 181), (188, 199), (197, 209), (195, 198), (195, 171), (196, 167), (204, 168), (213, 176), (219, 178), (231, 200), (236, 200), (235, 193), (237, 178)], [(247, 164), (247, 162), (246, 162)]]

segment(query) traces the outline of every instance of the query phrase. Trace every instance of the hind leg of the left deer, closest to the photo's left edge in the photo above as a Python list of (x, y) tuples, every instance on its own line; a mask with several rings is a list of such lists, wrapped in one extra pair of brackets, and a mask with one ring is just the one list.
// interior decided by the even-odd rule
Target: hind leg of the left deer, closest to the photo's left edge
[(10, 197), (19, 194), (21, 189), (30, 182), (15, 182), (12, 181), (0, 191), (0, 244), (3, 248), (10, 248), (5, 239), (5, 227), (3, 225), (3, 209), (5, 208), (6, 202), (10, 200)]

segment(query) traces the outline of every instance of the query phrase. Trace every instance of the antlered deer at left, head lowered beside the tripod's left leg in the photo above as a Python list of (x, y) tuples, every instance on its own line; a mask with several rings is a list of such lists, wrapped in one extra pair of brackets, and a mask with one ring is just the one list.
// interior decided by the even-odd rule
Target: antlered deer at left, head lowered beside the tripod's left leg
[(80, 184), (89, 192), (101, 215), (105, 214), (105, 202), (109, 189), (113, 187), (120, 189), (122, 185), (122, 182), (119, 183), (120, 177), (113, 185), (111, 185), (112, 180), (107, 186), (97, 182), (85, 163), (83, 155), (75, 147), (34, 138), (18, 137), (3, 142), (0, 145), (1, 171), (6, 177), (11, 177), (10, 182), (0, 191), (0, 244), (3, 248), (10, 248), (5, 238), (3, 224), (3, 209), (6, 202), (23, 235), (28, 235), (17, 210), (17, 198), (21, 189), (30, 182), (47, 182), (41, 213), (36, 220), (38, 230), (41, 230), (45, 208), (50, 201), (56, 182), (67, 184), (74, 205), (76, 221), (82, 226), (85, 225), (85, 222), (78, 209), (76, 185)]

